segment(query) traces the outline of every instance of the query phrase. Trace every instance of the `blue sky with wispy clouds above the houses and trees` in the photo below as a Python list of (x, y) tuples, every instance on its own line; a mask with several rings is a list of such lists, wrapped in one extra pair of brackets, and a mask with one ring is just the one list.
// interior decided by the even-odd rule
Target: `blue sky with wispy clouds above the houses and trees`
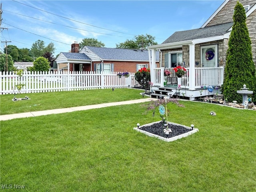
[[(31, 48), (37, 40), (56, 48), (95, 38), (105, 47), (150, 34), (161, 44), (176, 31), (200, 28), (224, 0), (1, 0), (1, 47)], [(2, 29), (8, 28), (8, 29)]]

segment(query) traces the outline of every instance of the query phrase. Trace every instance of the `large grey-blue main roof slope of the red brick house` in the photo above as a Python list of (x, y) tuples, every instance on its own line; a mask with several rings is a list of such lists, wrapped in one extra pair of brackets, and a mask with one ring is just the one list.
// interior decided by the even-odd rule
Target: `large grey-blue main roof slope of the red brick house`
[[(86, 46), (103, 60), (134, 60), (148, 61), (148, 50), (118, 49), (105, 47)], [(156, 60), (159, 61), (159, 52), (156, 52)]]

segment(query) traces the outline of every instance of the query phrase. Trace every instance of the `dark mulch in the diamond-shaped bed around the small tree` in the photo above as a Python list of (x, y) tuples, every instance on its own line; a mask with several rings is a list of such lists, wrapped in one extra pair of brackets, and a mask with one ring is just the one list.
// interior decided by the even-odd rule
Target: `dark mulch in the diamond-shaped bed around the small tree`
[(140, 127), (139, 129), (146, 131), (146, 132), (150, 132), (152, 134), (155, 134), (155, 135), (158, 135), (161, 137), (164, 137), (164, 138), (171, 138), (171, 137), (178, 136), (178, 135), (181, 135), (181, 134), (191, 131), (191, 129), (187, 129), (183, 126), (177, 126), (177, 125), (173, 125), (170, 123), (168, 124), (168, 127), (172, 130), (172, 132), (170, 132), (169, 135), (166, 135), (164, 133), (163, 130), (166, 127), (163, 126), (162, 122), (152, 124), (150, 126), (145, 126), (145, 127), (143, 126), (143, 127)]

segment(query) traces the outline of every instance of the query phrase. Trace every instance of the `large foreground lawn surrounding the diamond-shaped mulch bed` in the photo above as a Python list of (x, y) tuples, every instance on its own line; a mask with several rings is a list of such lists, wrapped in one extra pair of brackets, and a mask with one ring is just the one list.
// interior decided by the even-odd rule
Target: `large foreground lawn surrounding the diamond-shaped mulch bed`
[(168, 120), (199, 132), (169, 143), (133, 130), (160, 120), (143, 115), (141, 104), (2, 121), (0, 184), (29, 192), (255, 192), (255, 111), (180, 103), (185, 108), (168, 104)]

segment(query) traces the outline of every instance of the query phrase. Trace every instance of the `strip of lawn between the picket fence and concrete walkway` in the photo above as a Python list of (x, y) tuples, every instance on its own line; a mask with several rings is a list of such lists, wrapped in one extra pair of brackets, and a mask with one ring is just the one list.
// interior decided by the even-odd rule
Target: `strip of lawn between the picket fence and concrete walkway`
[(94, 89), (82, 91), (17, 94), (16, 98), (25, 98), (25, 96), (28, 96), (31, 99), (16, 102), (12, 101), (14, 94), (0, 95), (0, 114), (15, 114), (142, 99), (142, 95), (139, 94), (140, 92), (143, 92), (143, 90), (119, 88), (115, 89), (114, 91), (112, 91), (112, 89)]

